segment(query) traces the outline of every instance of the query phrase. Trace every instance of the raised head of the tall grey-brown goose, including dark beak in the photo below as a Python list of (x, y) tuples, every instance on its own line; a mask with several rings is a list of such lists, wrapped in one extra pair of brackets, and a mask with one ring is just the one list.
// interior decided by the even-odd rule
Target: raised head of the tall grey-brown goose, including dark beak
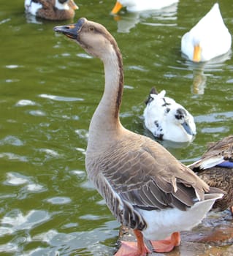
[(80, 18), (74, 24), (56, 26), (53, 30), (75, 40), (88, 54), (102, 60), (116, 47), (115, 39), (104, 26), (86, 18)]

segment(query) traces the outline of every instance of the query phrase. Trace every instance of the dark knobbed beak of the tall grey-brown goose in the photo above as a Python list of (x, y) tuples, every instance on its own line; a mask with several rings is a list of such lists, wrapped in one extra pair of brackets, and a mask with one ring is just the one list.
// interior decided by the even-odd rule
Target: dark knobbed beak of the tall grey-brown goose
[(75, 24), (56, 26), (53, 28), (53, 30), (64, 34), (66, 37), (69, 37), (70, 39), (77, 39), (78, 33), (80, 29), (82, 29), (83, 23), (85, 23), (85, 21), (85, 18), (80, 18), (79, 20), (77, 20), (77, 23)]

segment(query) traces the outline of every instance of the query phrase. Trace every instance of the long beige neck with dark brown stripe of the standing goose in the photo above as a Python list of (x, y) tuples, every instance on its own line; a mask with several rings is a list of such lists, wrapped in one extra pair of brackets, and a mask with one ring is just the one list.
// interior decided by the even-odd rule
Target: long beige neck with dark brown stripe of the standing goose
[[(111, 47), (102, 59), (104, 62), (104, 94), (89, 127), (88, 150), (96, 151), (102, 144), (115, 138), (121, 130), (119, 110), (123, 93), (123, 64), (118, 47)], [(101, 143), (104, 141), (104, 143)]]

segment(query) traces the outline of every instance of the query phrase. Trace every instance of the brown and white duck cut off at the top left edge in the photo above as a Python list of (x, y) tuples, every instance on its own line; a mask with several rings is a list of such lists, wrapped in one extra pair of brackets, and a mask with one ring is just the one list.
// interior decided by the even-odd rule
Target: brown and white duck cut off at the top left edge
[(25, 10), (46, 20), (69, 20), (75, 17), (77, 4), (73, 0), (25, 0)]

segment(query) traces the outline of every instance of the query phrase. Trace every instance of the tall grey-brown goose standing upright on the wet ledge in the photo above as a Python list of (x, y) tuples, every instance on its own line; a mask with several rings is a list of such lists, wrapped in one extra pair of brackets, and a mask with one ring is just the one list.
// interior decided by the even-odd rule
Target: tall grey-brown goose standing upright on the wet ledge
[(201, 222), (223, 194), (163, 146), (123, 127), (119, 118), (123, 61), (117, 42), (104, 26), (80, 18), (54, 31), (104, 64), (104, 93), (91, 118), (85, 168), (114, 217), (131, 227), (137, 238), (136, 243), (123, 243), (117, 255), (147, 254), (144, 238), (158, 252), (171, 251), (180, 244), (179, 231)]

